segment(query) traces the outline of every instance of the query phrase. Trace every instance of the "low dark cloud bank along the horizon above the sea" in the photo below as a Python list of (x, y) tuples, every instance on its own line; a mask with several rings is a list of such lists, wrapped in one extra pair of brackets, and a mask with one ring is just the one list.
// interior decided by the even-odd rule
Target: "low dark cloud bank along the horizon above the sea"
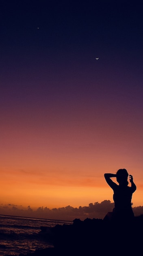
[[(104, 200), (101, 203), (90, 203), (89, 206), (84, 207), (72, 207), (70, 205), (61, 208), (49, 209), (48, 207), (38, 207), (36, 210), (30, 206), (23, 208), (21, 205), (15, 204), (1, 204), (0, 214), (20, 217), (31, 218), (45, 218), (51, 220), (74, 220), (80, 218), (85, 220), (86, 218), (98, 218), (103, 219), (108, 211), (112, 211), (114, 203), (110, 200)], [(143, 214), (143, 206), (132, 207), (134, 216), (140, 216)]]

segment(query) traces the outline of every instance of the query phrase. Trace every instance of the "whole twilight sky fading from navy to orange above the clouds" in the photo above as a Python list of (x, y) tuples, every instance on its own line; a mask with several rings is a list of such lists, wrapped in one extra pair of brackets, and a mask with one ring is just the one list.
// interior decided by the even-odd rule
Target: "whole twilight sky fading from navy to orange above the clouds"
[(113, 202), (126, 168), (143, 205), (142, 7), (0, 1), (1, 204)]

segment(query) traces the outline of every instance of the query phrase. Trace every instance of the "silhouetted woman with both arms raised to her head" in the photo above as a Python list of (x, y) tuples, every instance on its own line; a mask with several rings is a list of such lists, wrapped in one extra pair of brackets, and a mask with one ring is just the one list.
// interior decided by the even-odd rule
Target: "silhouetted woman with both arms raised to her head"
[[(116, 174), (105, 173), (105, 180), (113, 189), (113, 200), (115, 208), (113, 209), (111, 220), (116, 222), (132, 221), (134, 220), (134, 213), (132, 211), (132, 193), (137, 189), (133, 182), (132, 175), (129, 175), (131, 186), (128, 186), (128, 172), (126, 169), (119, 169)], [(111, 180), (111, 177), (116, 177), (117, 185)]]

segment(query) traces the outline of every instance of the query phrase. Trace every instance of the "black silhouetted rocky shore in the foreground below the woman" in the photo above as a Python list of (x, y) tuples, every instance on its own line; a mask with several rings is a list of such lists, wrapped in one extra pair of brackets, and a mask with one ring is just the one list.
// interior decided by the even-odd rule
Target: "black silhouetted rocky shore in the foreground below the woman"
[(118, 226), (102, 219), (75, 219), (72, 225), (56, 225), (48, 232), (43, 228), (40, 235), (51, 240), (54, 247), (26, 256), (138, 255), (142, 250), (142, 231), (143, 215), (134, 217), (133, 222), (120, 222)]

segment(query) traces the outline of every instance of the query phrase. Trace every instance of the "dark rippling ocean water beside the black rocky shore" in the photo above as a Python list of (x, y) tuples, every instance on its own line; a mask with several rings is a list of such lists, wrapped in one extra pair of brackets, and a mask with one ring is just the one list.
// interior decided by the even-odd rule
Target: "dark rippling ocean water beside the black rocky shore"
[(57, 224), (68, 225), (71, 222), (0, 215), (0, 256), (18, 256), (53, 247), (39, 232), (41, 227), (54, 227)]

